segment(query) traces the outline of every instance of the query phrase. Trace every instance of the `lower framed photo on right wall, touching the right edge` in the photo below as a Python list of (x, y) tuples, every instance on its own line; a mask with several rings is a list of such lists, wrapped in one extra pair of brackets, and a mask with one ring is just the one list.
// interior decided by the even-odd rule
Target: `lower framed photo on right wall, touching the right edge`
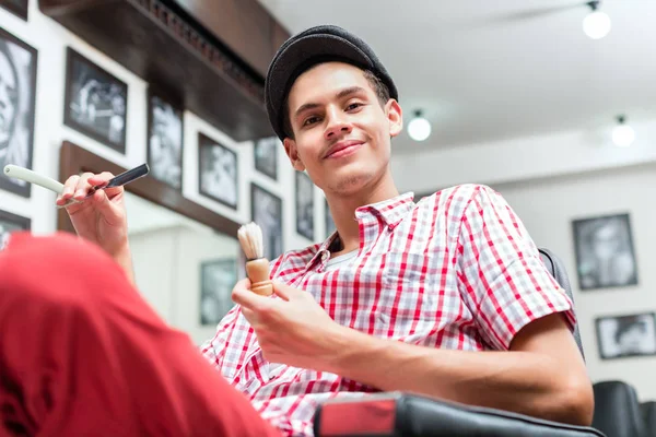
[(602, 359), (656, 355), (654, 312), (601, 317), (596, 320)]

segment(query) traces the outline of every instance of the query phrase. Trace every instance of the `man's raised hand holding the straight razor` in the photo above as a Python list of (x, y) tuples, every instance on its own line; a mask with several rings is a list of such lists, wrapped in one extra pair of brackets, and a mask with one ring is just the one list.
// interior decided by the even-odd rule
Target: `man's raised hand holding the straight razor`
[[(99, 175), (73, 175), (66, 181), (62, 194), (57, 198), (57, 204), (62, 205), (70, 199), (82, 200), (93, 187), (103, 185), (113, 177), (108, 172)], [(129, 258), (128, 221), (124, 199), (122, 187), (107, 188), (96, 191), (93, 197), (84, 199), (81, 203), (66, 208), (78, 235), (101, 246), (121, 264), (125, 260), (119, 258)], [(129, 268), (124, 265), (126, 267)]]

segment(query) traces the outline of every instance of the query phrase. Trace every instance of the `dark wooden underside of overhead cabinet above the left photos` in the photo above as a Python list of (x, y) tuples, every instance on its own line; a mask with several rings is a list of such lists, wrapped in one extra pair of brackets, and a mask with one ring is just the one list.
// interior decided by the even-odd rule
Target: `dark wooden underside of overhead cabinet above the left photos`
[(39, 8), (236, 141), (273, 134), (263, 75), (162, 0), (40, 0)]

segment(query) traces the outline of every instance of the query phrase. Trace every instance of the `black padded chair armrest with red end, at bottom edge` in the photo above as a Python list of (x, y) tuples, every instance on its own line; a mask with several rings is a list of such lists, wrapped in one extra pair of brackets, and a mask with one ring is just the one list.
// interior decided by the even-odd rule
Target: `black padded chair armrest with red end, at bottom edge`
[(317, 437), (605, 437), (589, 427), (400, 392), (327, 401), (317, 409), (314, 432)]

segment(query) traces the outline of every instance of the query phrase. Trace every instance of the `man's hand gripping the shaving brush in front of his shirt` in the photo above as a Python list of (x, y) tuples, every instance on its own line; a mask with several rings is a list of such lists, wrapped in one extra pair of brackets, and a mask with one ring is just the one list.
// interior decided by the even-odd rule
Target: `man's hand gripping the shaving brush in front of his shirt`
[(253, 293), (248, 279), (239, 281), (232, 292), (255, 330), (265, 358), (329, 371), (339, 354), (336, 339), (350, 330), (336, 323), (309, 293), (278, 282), (273, 282), (273, 292), (280, 298)]

